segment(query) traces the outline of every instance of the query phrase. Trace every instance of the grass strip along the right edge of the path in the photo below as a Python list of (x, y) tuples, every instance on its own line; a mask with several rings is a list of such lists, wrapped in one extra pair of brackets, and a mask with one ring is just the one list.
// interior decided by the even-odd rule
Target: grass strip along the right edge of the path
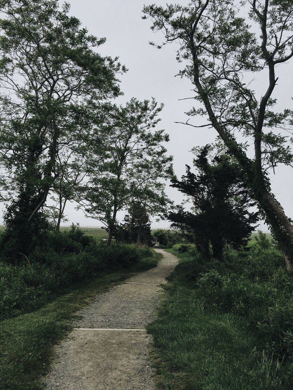
[(148, 330), (155, 342), (155, 379), (162, 389), (291, 389), (290, 367), (257, 349), (257, 334), (243, 316), (205, 305), (190, 282), (194, 258), (180, 259), (166, 285), (159, 316)]

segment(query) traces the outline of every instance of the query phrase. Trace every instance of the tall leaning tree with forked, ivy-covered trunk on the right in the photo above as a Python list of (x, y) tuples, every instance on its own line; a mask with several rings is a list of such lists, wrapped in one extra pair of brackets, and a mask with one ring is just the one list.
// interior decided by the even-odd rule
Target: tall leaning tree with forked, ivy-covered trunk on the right
[[(293, 160), (286, 137), (278, 130), (292, 124), (292, 111), (272, 108), (276, 67), (293, 57), (293, 5), (282, 0), (240, 2), (241, 7), (250, 5), (248, 20), (257, 32), (239, 16), (236, 5), (219, 0), (166, 8), (153, 4), (144, 7), (143, 18), (152, 19), (152, 30), (163, 30), (163, 45), (180, 43), (177, 60), (187, 64), (179, 75), (192, 81), (195, 99), (203, 106), (189, 115), (208, 118), (207, 124), (191, 126), (216, 129), (241, 166), (245, 183), (283, 250), (287, 269), (293, 272), (293, 225), (272, 194), (267, 174), (268, 167), (291, 165)], [(268, 82), (258, 100), (252, 81), (259, 72), (268, 75)], [(238, 133), (252, 138), (254, 158)]]

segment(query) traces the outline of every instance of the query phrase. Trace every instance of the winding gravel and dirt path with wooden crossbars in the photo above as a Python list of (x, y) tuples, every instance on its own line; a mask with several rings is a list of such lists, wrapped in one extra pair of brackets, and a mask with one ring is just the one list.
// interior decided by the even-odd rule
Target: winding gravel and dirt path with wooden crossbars
[(166, 283), (177, 264), (163, 254), (158, 266), (98, 296), (77, 314), (76, 329), (55, 348), (55, 361), (43, 379), (48, 390), (155, 390), (145, 326), (154, 318)]

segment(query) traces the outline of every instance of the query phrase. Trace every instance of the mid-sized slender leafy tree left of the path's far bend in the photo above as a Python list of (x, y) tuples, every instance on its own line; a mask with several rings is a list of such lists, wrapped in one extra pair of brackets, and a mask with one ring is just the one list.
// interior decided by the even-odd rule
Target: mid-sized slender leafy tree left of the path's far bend
[(108, 245), (118, 211), (142, 199), (143, 183), (150, 188), (150, 183), (169, 175), (172, 157), (166, 156), (162, 145), (169, 137), (164, 130), (153, 130), (160, 121), (156, 117), (162, 108), (163, 105), (157, 107), (154, 99), (141, 102), (132, 98), (124, 107), (113, 105), (100, 130), (107, 157), (91, 170), (87, 203), (83, 207), (88, 216), (106, 225)]

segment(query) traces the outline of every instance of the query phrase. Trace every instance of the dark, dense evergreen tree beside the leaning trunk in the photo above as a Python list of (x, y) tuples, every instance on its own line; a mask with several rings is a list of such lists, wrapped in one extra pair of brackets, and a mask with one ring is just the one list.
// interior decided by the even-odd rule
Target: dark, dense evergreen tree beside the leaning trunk
[(180, 207), (169, 219), (173, 227), (193, 233), (205, 260), (209, 259), (209, 243), (214, 258), (222, 260), (225, 244), (237, 249), (247, 245), (258, 213), (249, 212), (254, 202), (244, 188), (238, 163), (225, 154), (216, 154), (209, 162), (210, 151), (211, 145), (206, 145), (193, 160), (197, 173), (187, 166), (186, 176), (172, 181), (172, 187), (191, 199), (193, 208), (189, 212)]

